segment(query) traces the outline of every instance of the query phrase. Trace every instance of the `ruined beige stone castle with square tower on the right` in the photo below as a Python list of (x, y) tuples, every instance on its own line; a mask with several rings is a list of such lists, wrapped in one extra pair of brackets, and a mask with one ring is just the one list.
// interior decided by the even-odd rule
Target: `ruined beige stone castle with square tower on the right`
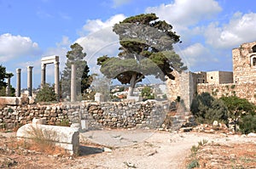
[(183, 99), (186, 108), (196, 93), (211, 93), (212, 96), (236, 95), (256, 104), (256, 42), (241, 44), (232, 50), (233, 72), (199, 71), (174, 72), (176, 80), (168, 80), (168, 99)]

